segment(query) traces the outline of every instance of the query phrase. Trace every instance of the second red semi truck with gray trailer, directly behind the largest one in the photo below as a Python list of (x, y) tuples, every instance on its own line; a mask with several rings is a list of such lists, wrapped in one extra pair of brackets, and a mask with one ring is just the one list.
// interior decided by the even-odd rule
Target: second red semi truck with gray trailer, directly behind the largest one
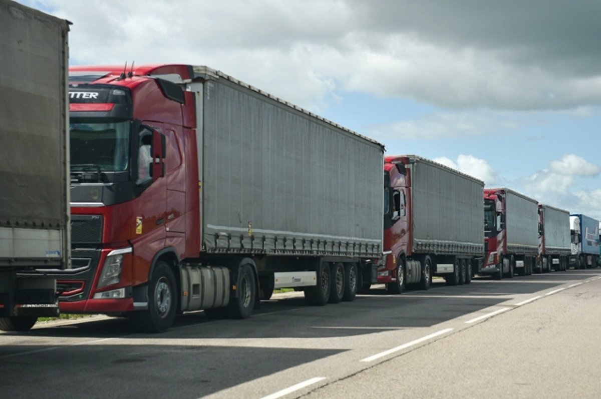
[(484, 183), (415, 155), (386, 156), (384, 172), (386, 257), (364, 287), (427, 290), (432, 276), (469, 284), (484, 254)]

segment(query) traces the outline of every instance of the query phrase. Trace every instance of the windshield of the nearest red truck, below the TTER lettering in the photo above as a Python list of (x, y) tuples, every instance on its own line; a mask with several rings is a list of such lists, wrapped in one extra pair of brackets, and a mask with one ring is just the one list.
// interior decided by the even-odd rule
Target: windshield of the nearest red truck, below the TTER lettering
[(130, 121), (71, 123), (71, 170), (94, 166), (104, 172), (126, 171), (129, 166)]

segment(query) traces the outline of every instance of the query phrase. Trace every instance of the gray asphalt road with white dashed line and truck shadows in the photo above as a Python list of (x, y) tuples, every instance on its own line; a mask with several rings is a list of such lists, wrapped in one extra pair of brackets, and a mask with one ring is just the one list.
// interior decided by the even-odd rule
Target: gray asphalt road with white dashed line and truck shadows
[(597, 398), (601, 269), (306, 306), (179, 317), (164, 334), (94, 317), (0, 334), (0, 397)]

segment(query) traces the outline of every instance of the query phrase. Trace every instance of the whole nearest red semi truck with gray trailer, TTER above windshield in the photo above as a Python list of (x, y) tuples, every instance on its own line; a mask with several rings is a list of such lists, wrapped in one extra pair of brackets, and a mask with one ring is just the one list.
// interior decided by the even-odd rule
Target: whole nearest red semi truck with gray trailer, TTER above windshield
[(383, 145), (192, 65), (72, 67), (64, 313), (245, 318), (353, 300), (382, 255)]

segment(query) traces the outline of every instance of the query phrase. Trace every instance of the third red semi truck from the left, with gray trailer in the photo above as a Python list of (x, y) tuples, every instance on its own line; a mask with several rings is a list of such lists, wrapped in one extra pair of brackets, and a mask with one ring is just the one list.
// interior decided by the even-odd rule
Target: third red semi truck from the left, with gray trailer
[(507, 188), (484, 189), (484, 265), (495, 279), (531, 275), (538, 257), (538, 203)]

